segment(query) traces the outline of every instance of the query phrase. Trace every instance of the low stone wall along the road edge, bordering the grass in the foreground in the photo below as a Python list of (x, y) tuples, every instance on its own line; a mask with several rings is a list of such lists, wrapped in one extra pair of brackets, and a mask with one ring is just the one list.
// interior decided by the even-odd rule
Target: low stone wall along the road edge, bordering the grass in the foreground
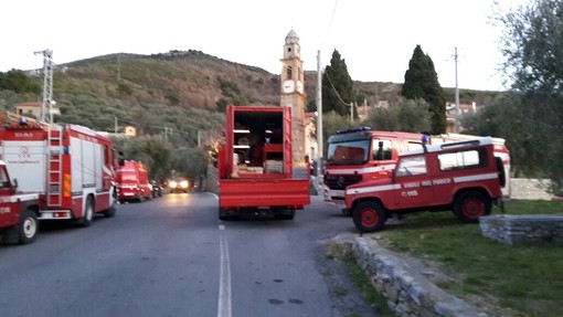
[(376, 241), (358, 237), (353, 244), (358, 264), (370, 276), (375, 289), (387, 298), (387, 305), (401, 316), (469, 317), (488, 316), (463, 299), (447, 294), (404, 263)]

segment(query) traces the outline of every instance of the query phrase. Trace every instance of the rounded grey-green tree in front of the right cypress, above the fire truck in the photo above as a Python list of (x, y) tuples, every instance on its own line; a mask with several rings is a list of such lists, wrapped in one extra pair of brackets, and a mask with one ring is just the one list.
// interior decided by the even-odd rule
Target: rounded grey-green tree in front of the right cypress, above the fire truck
[(424, 133), (431, 129), (429, 105), (424, 99), (403, 99), (370, 110), (362, 123), (378, 130)]

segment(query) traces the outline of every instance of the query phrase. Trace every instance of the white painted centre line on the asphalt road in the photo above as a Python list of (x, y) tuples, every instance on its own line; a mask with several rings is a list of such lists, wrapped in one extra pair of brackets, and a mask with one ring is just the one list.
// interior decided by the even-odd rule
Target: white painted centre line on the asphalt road
[(220, 234), (220, 270), (219, 270), (219, 303), (217, 317), (231, 317), (231, 258), (229, 256), (229, 243), (224, 234), (225, 225), (219, 225)]

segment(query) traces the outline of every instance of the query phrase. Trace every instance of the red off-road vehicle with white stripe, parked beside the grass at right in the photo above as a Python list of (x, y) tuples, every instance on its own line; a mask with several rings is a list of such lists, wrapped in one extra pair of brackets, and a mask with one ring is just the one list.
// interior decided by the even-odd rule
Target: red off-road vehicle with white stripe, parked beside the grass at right
[(416, 211), (453, 210), (475, 223), (501, 202), (502, 159), (490, 137), (424, 146), (402, 152), (390, 178), (348, 186), (346, 207), (361, 232), (383, 229), (387, 218)]

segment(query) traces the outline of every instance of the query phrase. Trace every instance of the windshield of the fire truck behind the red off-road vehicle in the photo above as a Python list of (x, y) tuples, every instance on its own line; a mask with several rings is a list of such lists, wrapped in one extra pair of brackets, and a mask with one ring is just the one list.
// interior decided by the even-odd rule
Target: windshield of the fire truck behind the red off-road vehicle
[(328, 146), (327, 165), (364, 165), (370, 155), (370, 139), (333, 142)]

